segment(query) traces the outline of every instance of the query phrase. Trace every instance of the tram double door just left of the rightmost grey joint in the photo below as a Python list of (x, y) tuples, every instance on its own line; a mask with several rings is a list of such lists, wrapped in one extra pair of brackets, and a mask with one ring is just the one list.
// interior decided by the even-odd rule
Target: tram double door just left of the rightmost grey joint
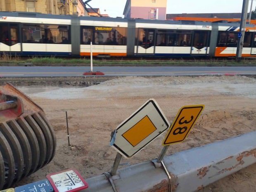
[(194, 31), (191, 54), (206, 55), (207, 47), (209, 47), (208, 38), (209, 38), (209, 31)]

